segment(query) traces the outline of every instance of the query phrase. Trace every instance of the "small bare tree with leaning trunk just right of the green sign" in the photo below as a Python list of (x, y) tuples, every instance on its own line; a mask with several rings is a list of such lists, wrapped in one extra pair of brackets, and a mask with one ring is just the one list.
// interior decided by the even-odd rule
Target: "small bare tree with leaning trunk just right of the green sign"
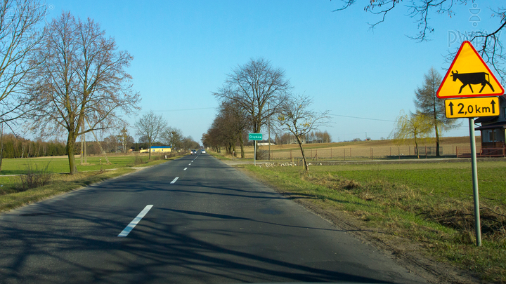
[(309, 170), (302, 148), (302, 138), (312, 130), (330, 123), (329, 111), (316, 112), (309, 109), (313, 100), (305, 95), (294, 95), (285, 100), (279, 109), (278, 124), (280, 130), (290, 131), (297, 139), (306, 171)]

